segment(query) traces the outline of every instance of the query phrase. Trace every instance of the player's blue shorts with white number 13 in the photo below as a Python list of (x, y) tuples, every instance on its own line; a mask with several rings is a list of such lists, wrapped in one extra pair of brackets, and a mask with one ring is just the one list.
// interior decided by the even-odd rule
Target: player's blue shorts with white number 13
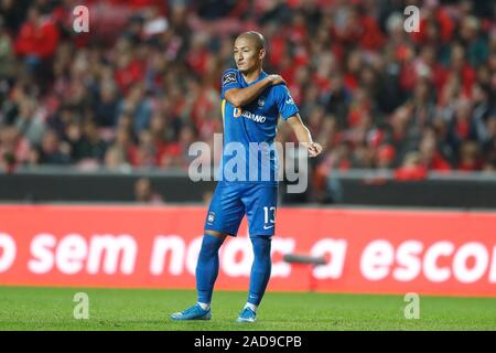
[(246, 214), (251, 236), (272, 236), (277, 203), (278, 185), (218, 182), (208, 207), (205, 229), (236, 236)]

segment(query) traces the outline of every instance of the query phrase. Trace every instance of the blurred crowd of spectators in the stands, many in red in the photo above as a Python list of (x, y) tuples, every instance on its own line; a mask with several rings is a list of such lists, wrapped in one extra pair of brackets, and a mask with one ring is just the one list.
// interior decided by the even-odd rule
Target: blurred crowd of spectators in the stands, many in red
[(222, 132), (219, 78), (247, 30), (324, 146), (316, 190), (335, 170), (496, 170), (496, 3), (467, 0), (0, 0), (0, 170), (187, 168)]

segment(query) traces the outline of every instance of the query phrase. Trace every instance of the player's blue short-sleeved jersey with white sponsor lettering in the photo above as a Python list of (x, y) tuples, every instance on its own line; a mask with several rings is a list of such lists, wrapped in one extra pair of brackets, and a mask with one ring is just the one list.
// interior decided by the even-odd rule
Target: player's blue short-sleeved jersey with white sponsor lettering
[(238, 69), (229, 68), (222, 78), (224, 147), (220, 175), (224, 181), (277, 184), (278, 153), (274, 145), (279, 116), (287, 120), (298, 107), (285, 85), (266, 88), (250, 104), (236, 108), (225, 99), (230, 88), (246, 88), (267, 77), (246, 83)]

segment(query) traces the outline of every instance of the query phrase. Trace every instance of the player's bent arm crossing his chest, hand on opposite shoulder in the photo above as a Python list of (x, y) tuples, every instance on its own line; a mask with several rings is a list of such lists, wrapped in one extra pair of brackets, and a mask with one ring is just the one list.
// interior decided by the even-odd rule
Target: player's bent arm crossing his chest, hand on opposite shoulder
[[(227, 101), (234, 107), (239, 108), (250, 104), (257, 98), (267, 87), (285, 84), (284, 79), (279, 75), (269, 75), (260, 79), (256, 84), (241, 88), (234, 79), (234, 71), (227, 71), (223, 76), (223, 93)], [(233, 78), (231, 78), (233, 77)], [(230, 87), (229, 87), (230, 86)]]

